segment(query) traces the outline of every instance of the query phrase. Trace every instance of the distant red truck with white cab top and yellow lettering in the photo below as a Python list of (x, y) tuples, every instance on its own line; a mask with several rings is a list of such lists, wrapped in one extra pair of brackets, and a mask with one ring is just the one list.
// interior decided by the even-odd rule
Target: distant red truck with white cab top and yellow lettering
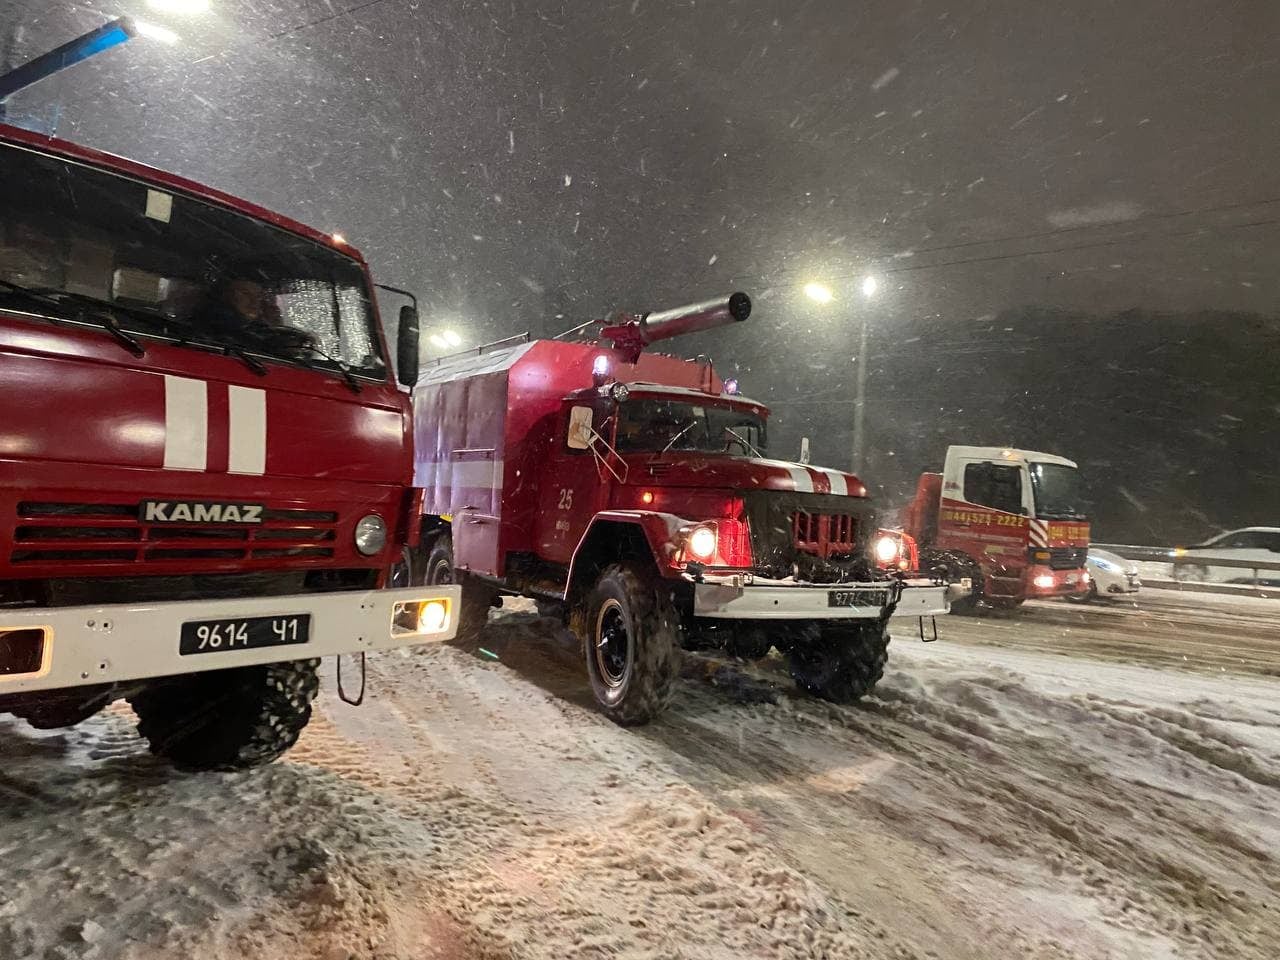
[(1088, 588), (1089, 524), (1076, 465), (1051, 453), (950, 447), (941, 474), (923, 474), (905, 512), (920, 562), (970, 591), (954, 613), (1011, 609), (1029, 598)]

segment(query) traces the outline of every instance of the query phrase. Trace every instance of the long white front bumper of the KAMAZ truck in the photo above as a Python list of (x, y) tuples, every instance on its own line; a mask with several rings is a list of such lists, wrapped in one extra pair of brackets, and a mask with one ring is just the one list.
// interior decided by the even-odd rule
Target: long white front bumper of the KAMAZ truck
[[(22, 643), (31, 643), (29, 631), (42, 631), (38, 668), (26, 673), (0, 673), (0, 698), (449, 640), (458, 630), (460, 596), (457, 586), (425, 586), (234, 600), (0, 611), (0, 644), (6, 643), (6, 635), (12, 635), (9, 643), (19, 643), (13, 631), (24, 631)], [(393, 630), (398, 607), (411, 604), (410, 609), (413, 609), (412, 604), (429, 600), (448, 603), (448, 616), (439, 628), (406, 630), (402, 614), (401, 626)], [(310, 614), (311, 618), (306, 643), (186, 655), (178, 649), (182, 625), (192, 621), (301, 614)], [(6, 662), (3, 654), (4, 650), (0, 650), (0, 664)]]

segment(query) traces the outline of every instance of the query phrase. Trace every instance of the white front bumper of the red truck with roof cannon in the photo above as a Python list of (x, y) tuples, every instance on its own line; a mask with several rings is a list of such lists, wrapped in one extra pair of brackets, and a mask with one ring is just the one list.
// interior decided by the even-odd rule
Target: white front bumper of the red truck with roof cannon
[[(908, 580), (901, 585), (899, 581), (790, 584), (760, 582), (745, 576), (708, 576), (694, 584), (694, 616), (714, 620), (878, 620), (897, 591), (893, 617), (940, 616), (960, 595), (955, 588), (931, 580)], [(883, 598), (882, 603), (876, 602), (879, 598)], [(849, 599), (854, 603), (844, 605)], [(833, 605), (836, 603), (841, 605)]]

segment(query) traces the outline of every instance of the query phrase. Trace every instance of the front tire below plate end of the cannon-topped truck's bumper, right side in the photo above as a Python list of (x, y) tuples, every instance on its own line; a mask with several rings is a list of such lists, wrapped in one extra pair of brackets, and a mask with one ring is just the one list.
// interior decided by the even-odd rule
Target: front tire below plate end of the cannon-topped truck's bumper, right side
[(854, 703), (867, 696), (888, 663), (888, 622), (883, 620), (817, 621), (795, 628), (788, 662), (801, 690)]

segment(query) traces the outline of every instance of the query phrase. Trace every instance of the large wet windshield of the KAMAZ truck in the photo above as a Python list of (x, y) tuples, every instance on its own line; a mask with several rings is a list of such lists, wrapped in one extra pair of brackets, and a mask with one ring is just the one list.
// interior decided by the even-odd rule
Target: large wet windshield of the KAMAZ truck
[(365, 273), (225, 207), (0, 145), (0, 306), (384, 379)]

